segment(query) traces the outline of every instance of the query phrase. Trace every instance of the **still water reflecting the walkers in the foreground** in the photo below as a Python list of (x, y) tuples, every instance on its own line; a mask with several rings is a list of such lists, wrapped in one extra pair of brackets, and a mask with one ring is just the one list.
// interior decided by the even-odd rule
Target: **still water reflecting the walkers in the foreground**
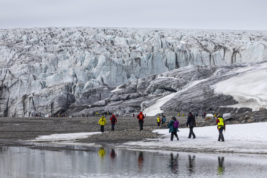
[(0, 177), (267, 177), (259, 155), (64, 147), (91, 151), (0, 147)]

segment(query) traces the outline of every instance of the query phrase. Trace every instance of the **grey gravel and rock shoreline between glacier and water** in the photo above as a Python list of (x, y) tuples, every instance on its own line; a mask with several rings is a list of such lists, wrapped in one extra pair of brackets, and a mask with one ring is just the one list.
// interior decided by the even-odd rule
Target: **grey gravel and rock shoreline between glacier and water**
[[(226, 124), (266, 122), (267, 110), (247, 112), (232, 115), (226, 120)], [(165, 112), (166, 124), (172, 116), (177, 113)], [(161, 135), (152, 132), (155, 129), (166, 128), (167, 125), (157, 126), (157, 117), (146, 117), (144, 119), (144, 130), (139, 130), (138, 119), (132, 116), (120, 116), (115, 125), (115, 131), (111, 131), (111, 125), (107, 116), (107, 125), (102, 134), (90, 135), (86, 139), (75, 140), (78, 143), (95, 143), (103, 146), (111, 144), (141, 141), (144, 139), (157, 139)], [(98, 125), (100, 117), (0, 117), (0, 146), (31, 147), (40, 150), (61, 151), (66, 148), (52, 147), (49, 144), (40, 146), (32, 144), (27, 140), (35, 139), (40, 135), (78, 133), (78, 132), (96, 132), (100, 131)], [(186, 127), (187, 117), (177, 117), (180, 122), (180, 128)], [(216, 125), (216, 119), (196, 119), (197, 127)]]

